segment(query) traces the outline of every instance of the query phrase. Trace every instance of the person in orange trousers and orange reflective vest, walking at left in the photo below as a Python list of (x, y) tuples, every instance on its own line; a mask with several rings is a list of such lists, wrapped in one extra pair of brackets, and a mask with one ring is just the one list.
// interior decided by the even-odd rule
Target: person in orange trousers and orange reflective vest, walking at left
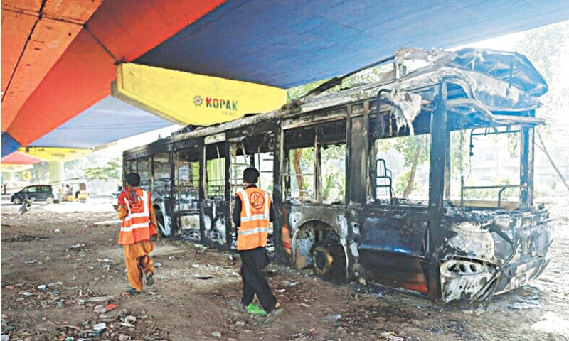
[(131, 294), (142, 292), (142, 278), (147, 286), (154, 284), (154, 266), (150, 252), (154, 244), (150, 237), (158, 234), (156, 214), (152, 207), (150, 193), (139, 188), (140, 175), (128, 173), (124, 180), (126, 186), (119, 194), (117, 213), (122, 224), (119, 232), (119, 244), (124, 248), (124, 261), (127, 265), (129, 290)]

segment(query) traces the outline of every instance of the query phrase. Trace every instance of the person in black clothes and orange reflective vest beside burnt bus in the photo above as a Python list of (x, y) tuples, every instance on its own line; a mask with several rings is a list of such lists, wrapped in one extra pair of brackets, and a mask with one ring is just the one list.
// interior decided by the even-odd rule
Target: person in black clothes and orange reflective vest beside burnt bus
[(273, 295), (267, 278), (262, 273), (269, 264), (265, 247), (269, 235), (269, 224), (275, 219), (275, 208), (269, 193), (257, 188), (259, 171), (247, 168), (243, 171), (243, 185), (235, 197), (233, 222), (237, 227), (237, 250), (241, 256), (241, 278), (243, 278), (242, 310), (248, 310), (255, 294), (272, 320), (282, 313), (277, 298)]

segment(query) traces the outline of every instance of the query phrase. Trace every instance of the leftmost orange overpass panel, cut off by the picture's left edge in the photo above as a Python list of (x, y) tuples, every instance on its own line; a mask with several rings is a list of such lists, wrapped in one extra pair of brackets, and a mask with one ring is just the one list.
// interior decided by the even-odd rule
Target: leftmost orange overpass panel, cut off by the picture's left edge
[[(2, 58), (2, 97), (6, 92), (6, 87), (10, 81), (10, 77), (14, 73), (14, 68), (18, 63), (18, 59), (26, 45), (26, 40), (30, 36), (33, 24), (38, 20), (37, 16), (28, 16), (27, 14), (6, 11), (2, 9), (1, 24), (1, 58)], [(14, 113), (16, 114), (16, 113)], [(4, 112), (2, 113), (2, 121), (4, 122)], [(4, 131), (4, 124), (2, 125)]]

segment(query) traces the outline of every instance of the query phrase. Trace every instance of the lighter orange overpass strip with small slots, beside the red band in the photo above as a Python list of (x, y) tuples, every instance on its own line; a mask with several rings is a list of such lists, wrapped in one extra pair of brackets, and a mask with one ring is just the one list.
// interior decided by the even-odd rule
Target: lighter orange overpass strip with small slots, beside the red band
[(2, 131), (8, 129), (23, 103), (67, 50), (81, 28), (75, 23), (51, 19), (38, 21), (12, 76), (9, 89), (2, 98)]

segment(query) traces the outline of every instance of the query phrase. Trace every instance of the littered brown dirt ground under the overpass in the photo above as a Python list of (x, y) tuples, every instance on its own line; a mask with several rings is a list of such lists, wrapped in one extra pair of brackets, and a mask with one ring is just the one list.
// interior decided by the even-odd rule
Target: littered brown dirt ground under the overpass
[[(541, 278), (487, 308), (334, 285), (312, 271), (271, 264), (270, 285), (285, 311), (263, 324), (233, 308), (241, 290), (237, 255), (232, 260), (227, 252), (160, 239), (153, 253), (156, 283), (126, 296), (119, 222), (110, 204), (17, 210), (1, 206), (3, 341), (569, 340), (567, 213), (556, 217), (551, 264)], [(101, 313), (107, 303), (117, 308)]]

